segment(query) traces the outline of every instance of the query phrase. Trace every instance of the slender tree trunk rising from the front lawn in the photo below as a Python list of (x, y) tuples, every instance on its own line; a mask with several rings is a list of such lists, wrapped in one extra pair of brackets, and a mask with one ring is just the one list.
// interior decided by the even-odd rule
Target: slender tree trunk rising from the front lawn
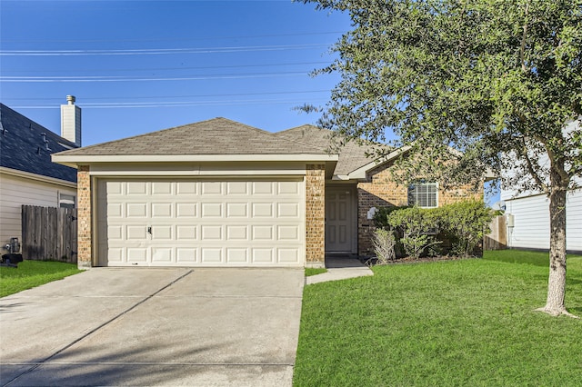
[(559, 174), (550, 172), (552, 191), (549, 194), (549, 279), (546, 306), (537, 311), (553, 316), (567, 314), (566, 310), (566, 193)]

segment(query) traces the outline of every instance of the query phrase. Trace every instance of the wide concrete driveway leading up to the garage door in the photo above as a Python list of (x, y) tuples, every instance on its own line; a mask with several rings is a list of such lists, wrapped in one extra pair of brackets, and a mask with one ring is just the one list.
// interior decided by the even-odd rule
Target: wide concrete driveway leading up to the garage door
[(0, 299), (0, 382), (291, 385), (300, 269), (94, 268)]

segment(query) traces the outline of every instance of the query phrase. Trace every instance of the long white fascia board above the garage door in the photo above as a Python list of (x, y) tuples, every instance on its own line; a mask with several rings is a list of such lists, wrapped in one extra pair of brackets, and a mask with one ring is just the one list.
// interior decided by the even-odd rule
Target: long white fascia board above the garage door
[(95, 163), (192, 163), (192, 162), (336, 162), (337, 154), (160, 154), (78, 155), (53, 154), (57, 164), (76, 167)]

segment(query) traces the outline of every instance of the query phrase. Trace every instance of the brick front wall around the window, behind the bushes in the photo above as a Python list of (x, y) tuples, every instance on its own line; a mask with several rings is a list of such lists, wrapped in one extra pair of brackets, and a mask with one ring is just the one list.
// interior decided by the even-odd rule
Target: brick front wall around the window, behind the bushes
[[(401, 206), (408, 204), (408, 187), (397, 185), (391, 178), (393, 164), (386, 164), (376, 168), (368, 174), (366, 182), (357, 184), (357, 253), (360, 256), (374, 254), (372, 235), (374, 221), (367, 219), (372, 207)], [(438, 192), (438, 205), (455, 203), (459, 200), (475, 198), (483, 199), (483, 189), (478, 192), (471, 190), (470, 185), (459, 185), (447, 191)]]

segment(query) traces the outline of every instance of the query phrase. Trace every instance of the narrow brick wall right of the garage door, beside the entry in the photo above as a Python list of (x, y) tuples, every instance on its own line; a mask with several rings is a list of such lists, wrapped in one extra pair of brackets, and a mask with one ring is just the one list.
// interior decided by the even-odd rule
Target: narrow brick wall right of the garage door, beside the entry
[(326, 165), (306, 166), (306, 267), (326, 264)]

